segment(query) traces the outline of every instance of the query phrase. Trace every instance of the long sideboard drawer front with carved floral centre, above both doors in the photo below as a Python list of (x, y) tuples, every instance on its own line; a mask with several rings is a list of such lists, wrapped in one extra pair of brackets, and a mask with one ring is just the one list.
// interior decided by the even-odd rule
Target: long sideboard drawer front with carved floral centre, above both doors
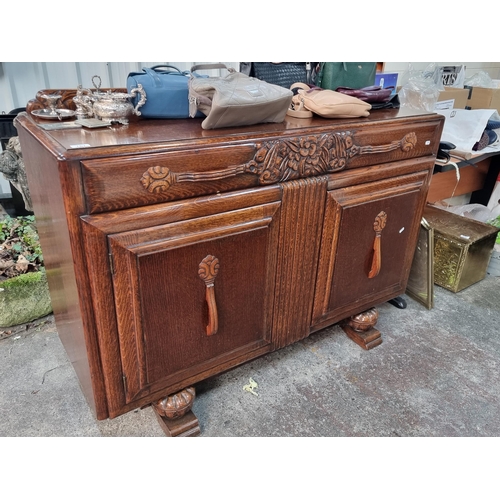
[(140, 157), (82, 162), (89, 213), (321, 176), (349, 168), (429, 156), (435, 121), (304, 129), (301, 135), (256, 138), (247, 144), (172, 150)]

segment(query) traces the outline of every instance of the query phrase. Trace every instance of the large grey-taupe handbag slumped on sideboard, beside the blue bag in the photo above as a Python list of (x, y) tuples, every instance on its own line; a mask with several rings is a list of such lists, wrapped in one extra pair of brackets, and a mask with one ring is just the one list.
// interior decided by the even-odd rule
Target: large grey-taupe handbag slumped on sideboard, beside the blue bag
[[(226, 69), (224, 77), (198, 77), (196, 70)], [(203, 129), (281, 123), (293, 93), (278, 85), (239, 73), (224, 64), (199, 64), (191, 68), (189, 116), (199, 110), (206, 118)]]

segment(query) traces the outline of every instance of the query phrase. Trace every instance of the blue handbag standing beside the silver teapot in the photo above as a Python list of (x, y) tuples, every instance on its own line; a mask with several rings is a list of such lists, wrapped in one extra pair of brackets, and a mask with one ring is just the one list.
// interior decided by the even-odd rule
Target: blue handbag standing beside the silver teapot
[[(190, 75), (189, 71), (168, 64), (143, 68), (140, 73), (129, 73), (127, 91), (137, 88), (139, 83), (142, 85), (146, 92), (146, 104), (141, 107), (144, 118), (189, 118)], [(132, 99), (134, 106), (137, 100), (137, 96)], [(197, 117), (203, 116), (201, 112), (197, 114)]]

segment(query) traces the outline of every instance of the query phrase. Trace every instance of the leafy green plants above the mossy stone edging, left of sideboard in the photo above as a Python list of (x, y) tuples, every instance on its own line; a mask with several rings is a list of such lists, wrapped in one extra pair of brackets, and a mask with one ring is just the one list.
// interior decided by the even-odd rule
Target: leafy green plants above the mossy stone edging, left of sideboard
[(43, 268), (36, 220), (32, 215), (0, 219), (0, 280)]

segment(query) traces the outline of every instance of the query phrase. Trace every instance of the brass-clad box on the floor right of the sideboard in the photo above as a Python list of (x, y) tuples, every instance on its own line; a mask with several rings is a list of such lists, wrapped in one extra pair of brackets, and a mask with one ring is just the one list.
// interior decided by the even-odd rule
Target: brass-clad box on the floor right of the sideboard
[(434, 283), (459, 292), (481, 281), (499, 229), (431, 205), (424, 218), (434, 229)]

